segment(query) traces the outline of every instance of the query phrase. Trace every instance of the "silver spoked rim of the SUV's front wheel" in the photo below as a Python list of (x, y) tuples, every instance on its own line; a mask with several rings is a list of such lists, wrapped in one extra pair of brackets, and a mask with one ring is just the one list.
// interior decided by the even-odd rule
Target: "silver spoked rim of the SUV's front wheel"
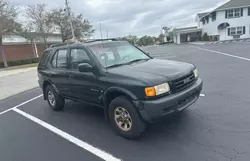
[(123, 131), (129, 131), (132, 127), (132, 118), (123, 107), (117, 107), (114, 111), (116, 125)]

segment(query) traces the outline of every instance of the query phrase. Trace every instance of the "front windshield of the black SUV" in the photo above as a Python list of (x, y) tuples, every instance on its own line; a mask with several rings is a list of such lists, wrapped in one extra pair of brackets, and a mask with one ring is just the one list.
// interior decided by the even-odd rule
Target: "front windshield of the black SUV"
[(89, 49), (104, 67), (125, 65), (130, 62), (150, 59), (149, 56), (128, 42), (95, 44), (90, 45)]

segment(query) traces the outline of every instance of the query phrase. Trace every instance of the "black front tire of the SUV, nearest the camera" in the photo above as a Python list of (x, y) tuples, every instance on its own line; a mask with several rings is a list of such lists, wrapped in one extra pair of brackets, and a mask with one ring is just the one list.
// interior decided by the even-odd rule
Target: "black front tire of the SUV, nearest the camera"
[[(131, 122), (129, 123), (130, 125), (128, 126), (123, 124), (124, 125), (123, 127), (125, 127), (126, 130), (121, 127), (122, 125), (119, 126), (118, 123), (119, 121), (117, 121), (118, 119), (120, 120), (120, 118), (117, 118), (117, 114), (119, 113), (119, 111), (123, 111), (126, 114), (126, 116), (128, 116), (125, 117), (125, 121), (130, 120)], [(145, 131), (146, 124), (143, 122), (134, 104), (126, 97), (121, 96), (113, 99), (109, 105), (108, 112), (109, 112), (109, 120), (111, 122), (113, 129), (122, 137), (127, 139), (137, 139)], [(126, 120), (126, 118), (129, 117), (130, 119)]]

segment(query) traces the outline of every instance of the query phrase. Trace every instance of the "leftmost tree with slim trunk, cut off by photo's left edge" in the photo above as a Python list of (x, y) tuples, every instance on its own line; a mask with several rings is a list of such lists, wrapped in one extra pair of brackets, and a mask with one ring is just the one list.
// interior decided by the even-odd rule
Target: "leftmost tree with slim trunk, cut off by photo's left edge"
[(7, 0), (0, 0), (0, 53), (4, 67), (8, 67), (6, 56), (3, 50), (3, 35), (13, 32), (19, 24), (15, 22), (17, 17), (17, 8)]

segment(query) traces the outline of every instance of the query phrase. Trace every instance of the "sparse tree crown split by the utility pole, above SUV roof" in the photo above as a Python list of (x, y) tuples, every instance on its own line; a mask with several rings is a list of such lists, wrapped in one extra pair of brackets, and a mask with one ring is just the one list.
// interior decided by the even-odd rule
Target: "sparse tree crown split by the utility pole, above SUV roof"
[(72, 18), (72, 24), (77, 39), (89, 38), (95, 32), (90, 22), (87, 19), (84, 19), (83, 14), (68, 14), (65, 9), (54, 9), (50, 14), (50, 19), (56, 26), (56, 29), (61, 33), (63, 42), (73, 37), (69, 23), (69, 16)]

